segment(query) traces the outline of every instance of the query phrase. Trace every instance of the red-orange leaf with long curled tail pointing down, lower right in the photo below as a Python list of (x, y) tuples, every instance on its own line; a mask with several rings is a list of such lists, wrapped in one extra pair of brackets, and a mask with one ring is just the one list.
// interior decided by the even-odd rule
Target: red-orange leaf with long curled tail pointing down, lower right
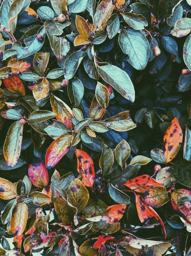
[(152, 207), (144, 204), (144, 200), (140, 195), (135, 194), (135, 202), (136, 202), (137, 212), (138, 212), (138, 216), (141, 223), (143, 223), (148, 218), (152, 218), (152, 217), (154, 217), (156, 220), (159, 220), (162, 226), (162, 231), (164, 232), (164, 238), (166, 239), (167, 234), (164, 228), (164, 223), (162, 222), (159, 215), (152, 209)]

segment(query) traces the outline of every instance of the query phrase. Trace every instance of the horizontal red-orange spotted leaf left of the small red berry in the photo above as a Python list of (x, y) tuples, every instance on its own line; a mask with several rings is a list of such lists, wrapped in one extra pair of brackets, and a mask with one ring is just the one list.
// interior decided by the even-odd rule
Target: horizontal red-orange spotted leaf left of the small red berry
[(145, 184), (145, 186), (142, 186), (138, 189), (136, 189), (136, 192), (144, 193), (144, 191), (147, 189), (147, 187), (153, 186), (153, 187), (163, 187), (160, 183), (156, 182), (155, 179), (151, 178), (150, 175), (141, 175), (134, 179), (128, 180), (125, 184), (125, 186), (135, 189), (140, 187), (141, 185)]

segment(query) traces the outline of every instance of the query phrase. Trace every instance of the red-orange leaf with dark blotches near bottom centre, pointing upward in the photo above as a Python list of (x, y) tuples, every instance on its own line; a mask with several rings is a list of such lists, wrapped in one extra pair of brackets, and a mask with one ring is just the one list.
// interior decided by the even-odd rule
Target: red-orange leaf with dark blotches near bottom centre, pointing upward
[(76, 156), (78, 159), (78, 172), (83, 175), (82, 183), (87, 186), (91, 187), (94, 183), (95, 178), (95, 171), (93, 167), (93, 161), (91, 157), (84, 151), (77, 149)]

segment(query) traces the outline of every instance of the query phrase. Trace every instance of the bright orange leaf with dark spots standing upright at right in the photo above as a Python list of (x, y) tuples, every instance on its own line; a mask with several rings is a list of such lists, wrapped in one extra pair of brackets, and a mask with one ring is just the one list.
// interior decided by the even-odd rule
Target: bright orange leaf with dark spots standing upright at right
[(177, 155), (182, 144), (182, 129), (179, 125), (178, 119), (175, 117), (171, 126), (167, 129), (163, 138), (163, 151), (167, 163)]

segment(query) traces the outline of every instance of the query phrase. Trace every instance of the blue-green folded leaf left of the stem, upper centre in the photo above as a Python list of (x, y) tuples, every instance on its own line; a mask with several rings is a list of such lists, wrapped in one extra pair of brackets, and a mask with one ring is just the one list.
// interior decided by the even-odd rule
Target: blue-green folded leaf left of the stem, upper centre
[(65, 79), (71, 79), (76, 70), (78, 69), (83, 57), (86, 55), (83, 51), (72, 53), (68, 59), (64, 62), (64, 77)]

